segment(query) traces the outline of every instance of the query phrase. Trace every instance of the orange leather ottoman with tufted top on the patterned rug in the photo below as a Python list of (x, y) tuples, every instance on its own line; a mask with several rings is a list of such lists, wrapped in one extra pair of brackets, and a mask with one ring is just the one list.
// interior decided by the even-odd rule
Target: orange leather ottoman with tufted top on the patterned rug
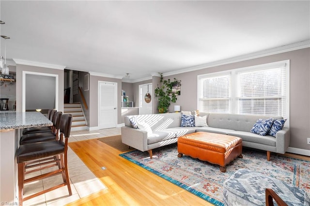
[(178, 138), (178, 157), (183, 154), (213, 164), (218, 164), (221, 172), (236, 157), (242, 158), (240, 137), (210, 132), (195, 132)]

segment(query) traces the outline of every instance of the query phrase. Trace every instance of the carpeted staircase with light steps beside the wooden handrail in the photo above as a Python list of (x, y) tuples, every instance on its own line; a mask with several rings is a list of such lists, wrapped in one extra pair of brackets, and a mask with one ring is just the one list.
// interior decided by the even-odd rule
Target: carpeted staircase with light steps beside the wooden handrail
[(63, 114), (71, 114), (71, 131), (87, 130), (87, 121), (80, 103), (65, 103), (63, 105)]

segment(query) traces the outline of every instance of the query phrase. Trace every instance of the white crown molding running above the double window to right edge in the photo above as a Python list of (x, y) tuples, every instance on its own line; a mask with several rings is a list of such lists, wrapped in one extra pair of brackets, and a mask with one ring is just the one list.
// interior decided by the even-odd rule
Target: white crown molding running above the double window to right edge
[(175, 75), (175, 74), (192, 72), (192, 71), (196, 71), (196, 70), (206, 69), (206, 68), (220, 66), (220, 65), (224, 65), (224, 64), (231, 64), (231, 63), (235, 63), (235, 62), (239, 62), (239, 61), (245, 61), (245, 60), (249, 60), (249, 59), (266, 57), (266, 56), (270, 56), (270, 55), (280, 54), (280, 53), (294, 51), (294, 50), (298, 50), (298, 49), (304, 49), (304, 48), (308, 48), (308, 47), (310, 47), (310, 40), (306, 40), (303, 42), (297, 42), (294, 44), (288, 44), (288, 45), (284, 45), (284, 46), (279, 46), (279, 47), (272, 48), (272, 49), (266, 49), (263, 51), (254, 52), (254, 53), (250, 53), (250, 54), (246, 54), (246, 55), (241, 55), (241, 56), (237, 56), (237, 57), (233, 57), (233, 58), (229, 58), (229, 59), (222, 59), (222, 60), (218, 60), (218, 61), (213, 61), (213, 62), (210, 62), (207, 64), (201, 64), (201, 65), (188, 67), (188, 68), (184, 68), (184, 69), (180, 69), (180, 70), (176, 70), (176, 71), (172, 71), (172, 72), (166, 72), (166, 73), (163, 73), (163, 76), (170, 76), (170, 75)]

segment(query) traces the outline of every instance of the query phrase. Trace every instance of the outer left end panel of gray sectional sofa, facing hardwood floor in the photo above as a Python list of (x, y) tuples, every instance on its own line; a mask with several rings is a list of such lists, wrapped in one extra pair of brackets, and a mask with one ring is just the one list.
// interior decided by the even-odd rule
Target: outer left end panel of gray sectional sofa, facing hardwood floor
[(147, 151), (147, 132), (131, 127), (121, 127), (122, 142), (144, 152)]

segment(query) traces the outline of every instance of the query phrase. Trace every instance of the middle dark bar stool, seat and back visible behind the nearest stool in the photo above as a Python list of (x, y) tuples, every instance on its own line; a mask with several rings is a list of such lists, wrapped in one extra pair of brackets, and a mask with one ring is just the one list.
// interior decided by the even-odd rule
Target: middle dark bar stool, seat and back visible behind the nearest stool
[(21, 136), (19, 140), (19, 145), (57, 140), (59, 135), (62, 112), (55, 112), (53, 116), (54, 117), (52, 121), (53, 122), (52, 131), (50, 130), (49, 132), (34, 132), (24, 134), (23, 136)]

